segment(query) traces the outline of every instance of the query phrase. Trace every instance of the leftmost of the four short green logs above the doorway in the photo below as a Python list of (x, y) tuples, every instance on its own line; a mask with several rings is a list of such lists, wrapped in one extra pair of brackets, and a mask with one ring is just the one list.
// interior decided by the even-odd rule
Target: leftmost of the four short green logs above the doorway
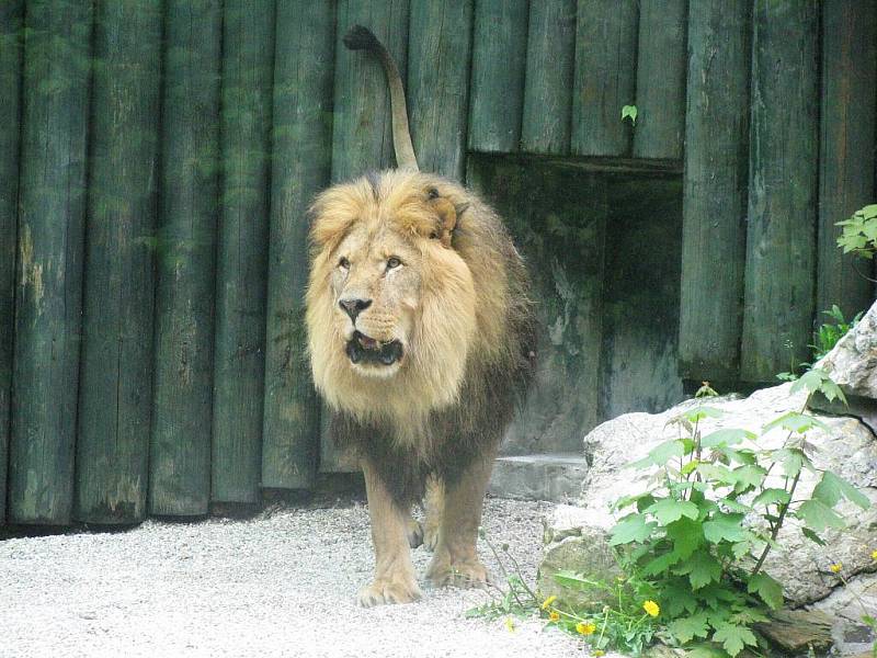
[(514, 152), (524, 107), (528, 0), (475, 4), (469, 148)]

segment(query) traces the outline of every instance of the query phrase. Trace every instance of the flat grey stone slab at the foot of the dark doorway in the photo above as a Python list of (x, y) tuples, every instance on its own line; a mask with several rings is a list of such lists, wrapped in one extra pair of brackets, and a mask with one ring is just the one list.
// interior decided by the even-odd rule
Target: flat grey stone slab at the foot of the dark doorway
[(498, 457), (488, 494), (519, 500), (576, 500), (588, 462), (581, 455), (538, 454)]

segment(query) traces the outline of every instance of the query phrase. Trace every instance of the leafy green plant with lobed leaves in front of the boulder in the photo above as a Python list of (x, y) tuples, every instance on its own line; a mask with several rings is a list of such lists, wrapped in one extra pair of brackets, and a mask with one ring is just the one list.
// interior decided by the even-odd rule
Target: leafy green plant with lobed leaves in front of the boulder
[[(791, 387), (819, 390), (829, 399), (843, 393), (820, 370), (805, 373)], [(799, 519), (808, 538), (844, 527), (836, 504), (847, 499), (868, 507), (868, 499), (835, 474), (821, 472), (807, 499), (796, 499), (802, 470), (819, 473), (810, 460), (807, 433), (824, 426), (800, 411), (781, 416), (763, 433), (782, 428), (782, 447), (763, 449), (745, 430), (721, 429), (702, 434), (704, 419), (721, 411), (703, 404), (715, 394), (703, 387), (701, 404), (674, 422), (679, 439), (654, 447), (635, 464), (658, 468), (660, 492), (646, 491), (619, 500), (616, 509), (636, 507), (612, 530), (611, 544), (625, 548), (629, 571), (648, 579), (662, 601), (659, 633), (664, 642), (699, 655), (737, 656), (756, 647), (753, 626), (768, 610), (783, 604), (783, 587), (762, 571), (789, 517)], [(771, 475), (773, 477), (771, 477)]]

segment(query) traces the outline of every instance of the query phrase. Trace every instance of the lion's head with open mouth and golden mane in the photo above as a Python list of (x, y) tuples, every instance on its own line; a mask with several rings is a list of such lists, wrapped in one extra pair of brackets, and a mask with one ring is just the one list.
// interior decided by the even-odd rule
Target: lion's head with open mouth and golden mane
[(308, 344), (332, 406), (398, 417), (456, 399), (476, 328), (472, 274), (451, 245), (462, 193), (390, 171), (318, 197)]

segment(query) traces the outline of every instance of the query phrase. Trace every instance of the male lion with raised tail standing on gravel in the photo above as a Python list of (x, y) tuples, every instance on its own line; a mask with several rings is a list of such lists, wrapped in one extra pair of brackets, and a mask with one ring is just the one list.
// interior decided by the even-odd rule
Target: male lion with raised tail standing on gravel
[[(344, 43), (384, 65), (399, 169), (315, 201), (306, 322), (332, 434), (365, 475), (376, 572), (358, 600), (371, 606), (420, 597), (409, 543), (423, 538), (434, 585), (487, 580), (481, 506), (532, 378), (535, 330), (524, 264), (500, 218), (459, 184), (418, 171), (396, 65), (364, 27)], [(421, 530), (411, 506), (428, 479)]]

